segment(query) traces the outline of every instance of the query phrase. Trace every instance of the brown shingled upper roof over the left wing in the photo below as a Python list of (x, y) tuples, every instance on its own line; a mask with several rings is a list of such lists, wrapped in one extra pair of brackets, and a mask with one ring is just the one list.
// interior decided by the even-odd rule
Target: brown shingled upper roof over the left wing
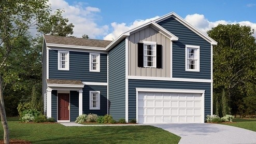
[(80, 46), (80, 47), (105, 49), (111, 42), (110, 40), (84, 39), (84, 38), (76, 38), (76, 37), (51, 36), (51, 35), (44, 35), (44, 38), (48, 46), (63, 45), (63, 46)]

